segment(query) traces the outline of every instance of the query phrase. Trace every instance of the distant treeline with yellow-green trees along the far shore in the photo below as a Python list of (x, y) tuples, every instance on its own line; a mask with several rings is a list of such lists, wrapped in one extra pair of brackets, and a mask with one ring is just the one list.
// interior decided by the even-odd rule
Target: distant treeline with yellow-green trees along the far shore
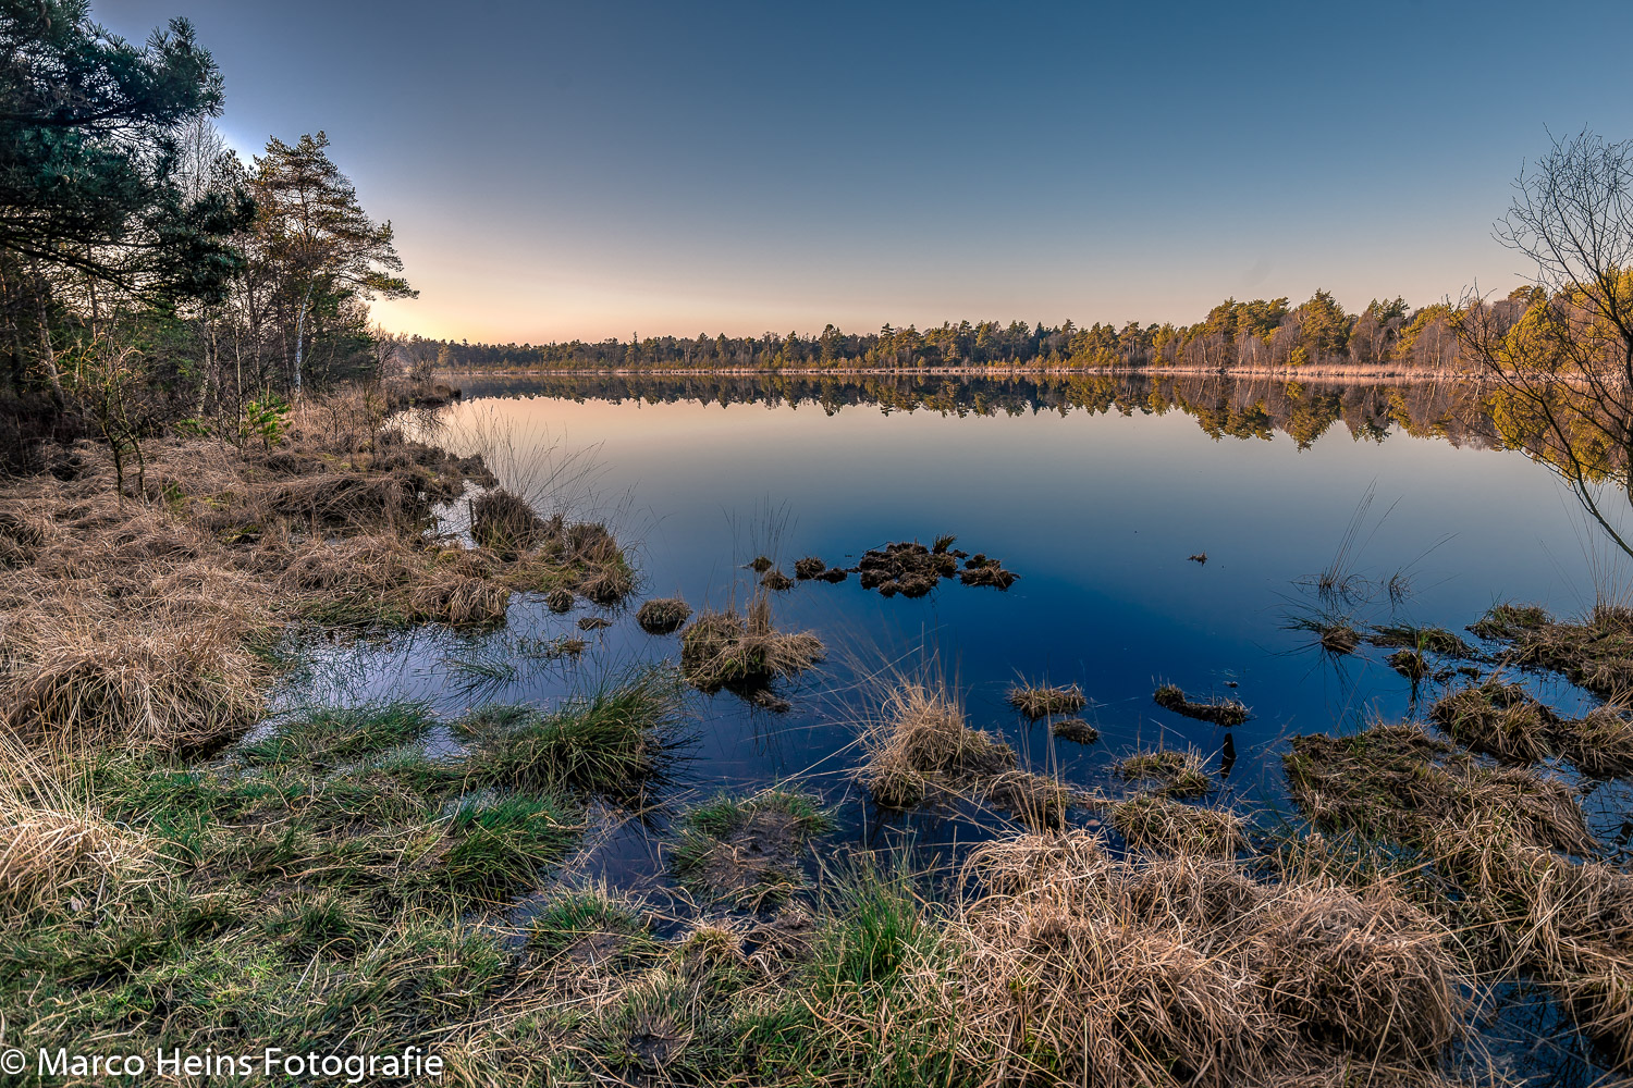
[[(1522, 313), (1535, 299), (1519, 289), (1488, 303)], [(1297, 307), (1287, 299), (1226, 299), (1195, 325), (1058, 326), (1011, 321), (960, 321), (918, 329), (885, 326), (877, 333), (648, 336), (643, 339), (554, 344), (470, 344), (407, 338), (408, 360), (425, 370), (781, 370), (919, 367), (1063, 367), (1140, 369), (1334, 369), (1388, 367), (1409, 372), (1463, 369), (1455, 323), (1458, 310), (1435, 303), (1413, 310), (1403, 299), (1373, 300), (1346, 313), (1318, 290)], [(1514, 316), (1504, 315), (1504, 316)]]

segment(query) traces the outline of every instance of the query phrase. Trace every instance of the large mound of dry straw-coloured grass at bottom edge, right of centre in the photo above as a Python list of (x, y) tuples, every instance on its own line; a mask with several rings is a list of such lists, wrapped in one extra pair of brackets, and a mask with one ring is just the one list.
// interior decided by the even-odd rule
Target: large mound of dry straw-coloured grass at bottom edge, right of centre
[(1225, 1088), (1346, 1062), (1432, 1080), (1462, 1031), (1447, 931), (1386, 886), (1114, 860), (1084, 832), (978, 847), (970, 871), (988, 894), (950, 936), (988, 1083)]

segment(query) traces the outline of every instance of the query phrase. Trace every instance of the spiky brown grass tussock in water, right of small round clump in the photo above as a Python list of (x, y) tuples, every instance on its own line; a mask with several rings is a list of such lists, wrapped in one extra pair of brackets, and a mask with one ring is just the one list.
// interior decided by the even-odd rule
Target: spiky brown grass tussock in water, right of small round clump
[(766, 688), (797, 677), (826, 649), (808, 631), (779, 631), (771, 600), (754, 597), (748, 615), (704, 610), (681, 633), (681, 674), (702, 692)]

